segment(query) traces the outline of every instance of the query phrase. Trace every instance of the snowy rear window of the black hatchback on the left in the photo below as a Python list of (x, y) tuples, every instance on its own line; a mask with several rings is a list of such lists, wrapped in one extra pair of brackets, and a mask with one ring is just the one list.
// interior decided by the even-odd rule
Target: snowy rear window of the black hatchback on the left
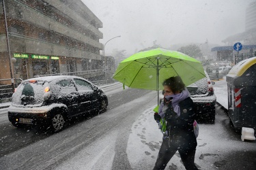
[(23, 82), (18, 86), (12, 97), (12, 103), (16, 105), (38, 105), (44, 100), (44, 89), (47, 82)]

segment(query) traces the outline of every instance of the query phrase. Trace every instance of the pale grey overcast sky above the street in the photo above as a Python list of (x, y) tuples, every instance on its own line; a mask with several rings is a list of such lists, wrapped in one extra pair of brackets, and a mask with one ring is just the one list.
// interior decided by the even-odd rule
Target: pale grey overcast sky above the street
[[(134, 54), (160, 44), (221, 41), (245, 30), (245, 10), (253, 0), (82, 0), (102, 21), (106, 54), (113, 49)], [(255, 0), (254, 0), (255, 1)]]

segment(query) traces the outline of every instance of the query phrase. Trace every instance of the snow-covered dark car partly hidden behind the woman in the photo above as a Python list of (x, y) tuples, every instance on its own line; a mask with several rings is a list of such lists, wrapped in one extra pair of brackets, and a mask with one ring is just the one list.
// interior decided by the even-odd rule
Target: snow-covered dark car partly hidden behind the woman
[(216, 95), (214, 95), (214, 88), (212, 82), (205, 71), (206, 78), (203, 78), (190, 86), (188, 86), (188, 91), (190, 92), (190, 97), (194, 101), (195, 112), (197, 113), (197, 122), (215, 122), (215, 105), (216, 105)]

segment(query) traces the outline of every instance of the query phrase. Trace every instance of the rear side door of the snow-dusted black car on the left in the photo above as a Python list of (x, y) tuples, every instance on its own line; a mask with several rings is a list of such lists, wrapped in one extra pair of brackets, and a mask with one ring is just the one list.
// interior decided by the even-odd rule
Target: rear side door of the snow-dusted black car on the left
[(68, 107), (68, 116), (78, 114), (79, 95), (74, 82), (71, 79), (64, 79), (57, 82), (56, 85), (59, 88), (58, 103), (63, 103)]

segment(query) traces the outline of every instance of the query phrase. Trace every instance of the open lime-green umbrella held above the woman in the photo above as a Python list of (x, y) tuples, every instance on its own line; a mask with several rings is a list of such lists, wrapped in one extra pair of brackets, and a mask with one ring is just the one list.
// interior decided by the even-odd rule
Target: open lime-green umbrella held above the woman
[(138, 52), (126, 58), (119, 63), (113, 78), (131, 88), (161, 90), (162, 82), (176, 75), (186, 86), (205, 78), (203, 66), (195, 58), (162, 48)]

